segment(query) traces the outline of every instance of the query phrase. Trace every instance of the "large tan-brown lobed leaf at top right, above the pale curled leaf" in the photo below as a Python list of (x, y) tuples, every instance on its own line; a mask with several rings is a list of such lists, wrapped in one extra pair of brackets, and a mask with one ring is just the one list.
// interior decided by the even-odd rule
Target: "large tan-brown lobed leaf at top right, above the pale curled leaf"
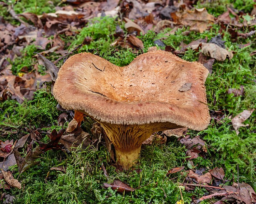
[(208, 14), (205, 8), (195, 9), (193, 11), (186, 10), (175, 12), (171, 14), (175, 23), (183, 24), (184, 26), (190, 26), (190, 31), (197, 31), (202, 33), (207, 29), (209, 24), (213, 24), (214, 17)]

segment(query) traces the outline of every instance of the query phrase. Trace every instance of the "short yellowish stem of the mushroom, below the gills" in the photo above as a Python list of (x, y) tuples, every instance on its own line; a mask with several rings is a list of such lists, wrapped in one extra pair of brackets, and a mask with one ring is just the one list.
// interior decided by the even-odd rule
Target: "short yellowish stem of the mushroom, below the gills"
[(132, 149), (130, 152), (124, 152), (119, 149), (115, 149), (117, 163), (122, 165), (124, 169), (130, 169), (134, 164), (138, 162), (140, 157), (141, 146), (137, 149)]

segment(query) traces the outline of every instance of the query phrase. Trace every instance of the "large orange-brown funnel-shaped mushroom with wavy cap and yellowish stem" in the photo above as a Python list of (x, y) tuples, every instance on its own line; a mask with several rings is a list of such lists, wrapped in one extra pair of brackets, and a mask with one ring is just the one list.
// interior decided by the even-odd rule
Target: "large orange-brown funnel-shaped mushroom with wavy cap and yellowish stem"
[(208, 73), (200, 63), (160, 50), (141, 54), (125, 67), (80, 53), (60, 68), (53, 94), (63, 108), (98, 121), (115, 147), (118, 164), (128, 169), (153, 132), (207, 128)]

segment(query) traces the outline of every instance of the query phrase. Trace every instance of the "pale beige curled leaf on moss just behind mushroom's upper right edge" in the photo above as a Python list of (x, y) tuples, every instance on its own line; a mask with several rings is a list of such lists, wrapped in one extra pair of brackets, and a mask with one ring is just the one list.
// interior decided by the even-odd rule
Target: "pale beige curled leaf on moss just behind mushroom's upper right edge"
[(231, 59), (233, 57), (232, 52), (230, 52), (222, 47), (219, 47), (218, 45), (213, 44), (213, 43), (201, 43), (198, 45), (193, 45), (193, 46), (191, 46), (191, 48), (193, 50), (196, 50), (200, 45), (201, 45), (201, 52), (204, 55), (211, 56), (212, 58), (216, 59), (217, 61), (224, 61), (227, 58), (227, 56), (229, 59)]

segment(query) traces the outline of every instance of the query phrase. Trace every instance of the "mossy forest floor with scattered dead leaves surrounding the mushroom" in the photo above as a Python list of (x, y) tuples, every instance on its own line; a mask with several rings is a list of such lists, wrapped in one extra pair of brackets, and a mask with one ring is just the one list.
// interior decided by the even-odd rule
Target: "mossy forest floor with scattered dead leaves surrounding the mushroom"
[[(256, 203), (255, 16), (252, 0), (1, 1), (0, 200)], [(125, 66), (153, 46), (209, 70), (211, 122), (155, 133), (125, 171), (93, 119), (66, 132), (51, 88), (76, 53)]]

